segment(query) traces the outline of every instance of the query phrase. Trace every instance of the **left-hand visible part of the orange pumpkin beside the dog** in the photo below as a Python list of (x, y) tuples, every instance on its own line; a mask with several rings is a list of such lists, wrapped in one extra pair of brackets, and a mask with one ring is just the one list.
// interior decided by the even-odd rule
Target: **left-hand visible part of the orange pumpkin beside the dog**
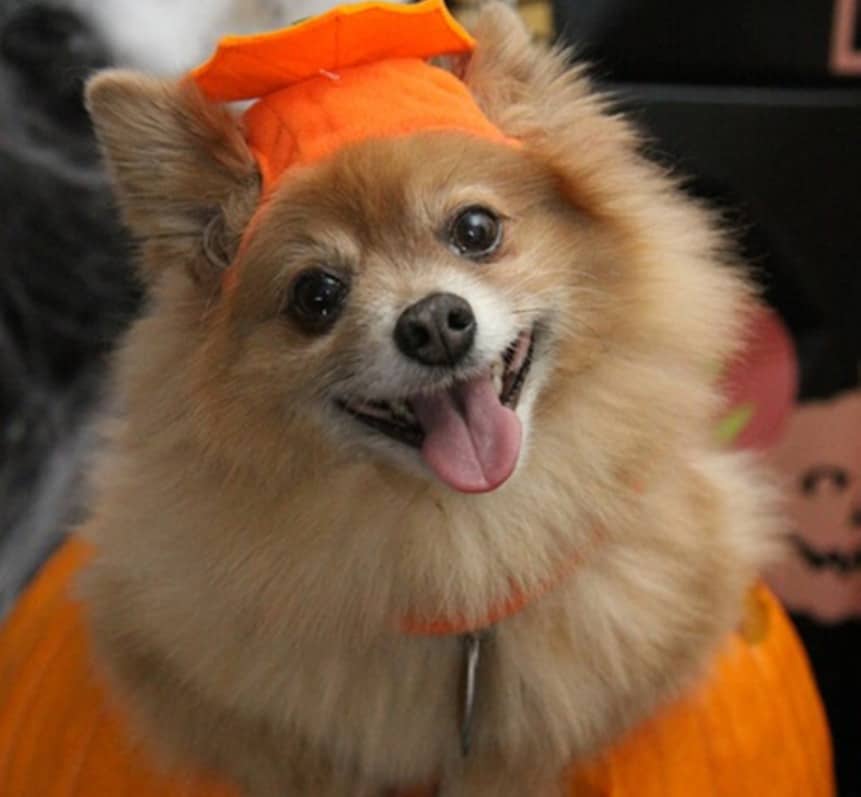
[(160, 772), (109, 705), (92, 667), (72, 579), (89, 548), (56, 553), (0, 628), (0, 795), (239, 797)]

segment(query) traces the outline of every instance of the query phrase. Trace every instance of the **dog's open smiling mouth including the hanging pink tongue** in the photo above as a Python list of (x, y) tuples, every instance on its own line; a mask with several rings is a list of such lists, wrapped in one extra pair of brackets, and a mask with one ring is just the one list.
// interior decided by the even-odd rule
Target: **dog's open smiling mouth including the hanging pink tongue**
[(534, 353), (534, 332), (521, 332), (490, 368), (444, 390), (397, 401), (338, 403), (365, 426), (419, 449), (450, 487), (487, 492), (517, 465), (521, 426), (515, 410)]

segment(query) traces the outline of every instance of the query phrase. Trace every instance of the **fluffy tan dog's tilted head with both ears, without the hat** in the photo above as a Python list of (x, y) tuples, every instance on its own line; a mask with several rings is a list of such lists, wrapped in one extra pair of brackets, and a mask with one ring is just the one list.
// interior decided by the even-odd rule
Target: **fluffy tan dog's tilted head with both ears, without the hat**
[[(260, 212), (226, 110), (188, 83), (91, 84), (169, 319), (149, 329), (175, 350), (167, 417), (185, 405), (229, 456), (358, 456), (481, 492), (559, 432), (556, 411), (602, 360), (704, 371), (732, 348), (715, 326), (737, 283), (711, 267), (700, 212), (511, 12), (489, 8), (477, 38), (453, 68), (522, 146), (365, 141), (290, 173)], [(640, 395), (604, 399), (624, 424)]]

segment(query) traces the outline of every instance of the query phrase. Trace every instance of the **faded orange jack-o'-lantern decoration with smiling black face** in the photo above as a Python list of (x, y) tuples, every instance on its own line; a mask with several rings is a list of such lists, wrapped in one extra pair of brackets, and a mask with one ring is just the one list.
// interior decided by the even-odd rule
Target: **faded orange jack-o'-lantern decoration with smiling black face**
[(800, 404), (770, 458), (787, 482), (792, 548), (772, 586), (820, 620), (861, 616), (861, 390)]

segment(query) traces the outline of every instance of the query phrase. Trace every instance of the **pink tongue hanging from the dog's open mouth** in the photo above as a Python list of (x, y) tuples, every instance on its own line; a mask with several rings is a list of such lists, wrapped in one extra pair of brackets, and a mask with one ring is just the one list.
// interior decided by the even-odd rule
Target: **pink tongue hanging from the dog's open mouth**
[(437, 477), (463, 493), (495, 490), (520, 455), (520, 419), (503, 407), (490, 376), (412, 400), (425, 432), (422, 456)]

